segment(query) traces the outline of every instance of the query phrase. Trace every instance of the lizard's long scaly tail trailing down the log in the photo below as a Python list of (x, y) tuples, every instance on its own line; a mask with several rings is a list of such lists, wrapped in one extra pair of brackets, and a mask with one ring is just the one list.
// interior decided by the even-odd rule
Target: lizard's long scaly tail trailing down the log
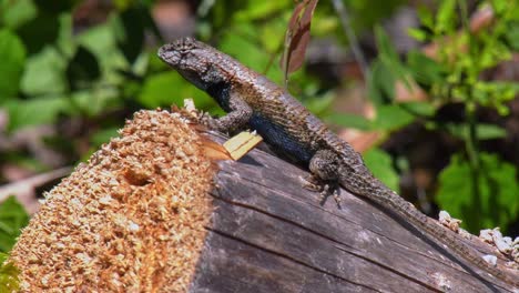
[[(519, 280), (512, 279), (499, 269), (491, 266), (479, 255), (476, 250), (460, 242), (455, 232), (436, 223), (436, 221), (418, 211), (411, 203), (400, 198), (397, 193), (388, 189), (377, 179), (372, 176), (370, 180), (366, 180), (365, 175), (353, 179), (349, 174), (347, 180), (342, 181), (345, 181), (339, 183), (345, 186), (346, 190), (353, 192), (354, 194), (367, 198), (368, 200), (374, 201), (386, 209), (390, 209), (391, 211), (398, 213), (398, 215), (403, 216), (404, 220), (410, 220), (410, 223), (420, 231), (425, 231), (426, 235), (434, 236), (437, 241), (449, 246), (457, 254), (475, 264), (477, 267), (485, 270), (486, 272), (492, 274), (506, 283), (519, 287)], [(353, 181), (358, 183), (352, 186), (350, 182)]]

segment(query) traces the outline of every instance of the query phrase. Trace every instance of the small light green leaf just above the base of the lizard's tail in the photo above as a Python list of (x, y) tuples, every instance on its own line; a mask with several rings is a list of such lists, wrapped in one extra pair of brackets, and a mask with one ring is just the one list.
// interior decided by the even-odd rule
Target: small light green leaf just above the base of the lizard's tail
[(373, 174), (389, 189), (398, 192), (398, 174), (393, 169), (391, 156), (380, 149), (370, 149), (363, 156)]

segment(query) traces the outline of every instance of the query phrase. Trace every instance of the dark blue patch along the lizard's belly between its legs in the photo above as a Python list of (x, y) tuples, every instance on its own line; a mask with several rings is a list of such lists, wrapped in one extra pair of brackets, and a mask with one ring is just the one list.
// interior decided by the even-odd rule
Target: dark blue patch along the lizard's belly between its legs
[(315, 153), (308, 145), (287, 133), (283, 127), (273, 123), (258, 113), (253, 113), (248, 123), (271, 146), (274, 146), (274, 152), (286, 155), (293, 161), (306, 164)]

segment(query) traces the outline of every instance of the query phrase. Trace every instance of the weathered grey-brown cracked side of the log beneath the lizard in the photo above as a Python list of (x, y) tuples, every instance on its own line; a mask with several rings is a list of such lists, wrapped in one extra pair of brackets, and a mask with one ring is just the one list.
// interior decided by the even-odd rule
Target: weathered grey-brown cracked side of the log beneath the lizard
[(340, 209), (319, 204), (304, 170), (265, 151), (220, 168), (192, 292), (513, 292), (344, 190)]

